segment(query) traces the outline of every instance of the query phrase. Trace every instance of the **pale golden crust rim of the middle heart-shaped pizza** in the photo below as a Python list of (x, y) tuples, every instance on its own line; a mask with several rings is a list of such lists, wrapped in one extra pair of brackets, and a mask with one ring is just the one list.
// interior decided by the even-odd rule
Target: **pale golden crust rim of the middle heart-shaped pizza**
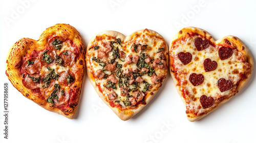
[[(115, 38), (120, 38), (121, 41), (124, 43), (124, 42), (127, 42), (127, 41), (130, 41), (131, 39), (133, 39), (133, 37), (137, 34), (137, 33), (142, 33), (143, 31), (147, 31), (151, 34), (156, 34), (157, 37), (160, 37), (164, 40), (164, 38), (158, 34), (157, 32), (153, 31), (153, 30), (148, 30), (148, 29), (145, 29), (145, 30), (138, 30), (134, 33), (132, 33), (131, 35), (125, 37), (122, 33), (119, 33), (119, 32), (116, 32), (116, 31), (103, 31), (103, 32), (100, 32), (96, 35), (94, 35), (89, 43), (88, 43), (88, 46), (87, 46), (87, 53), (90, 49), (90, 47), (93, 46), (93, 42), (95, 41), (95, 37), (96, 36), (101, 36), (101, 35), (108, 35), (108, 36), (112, 36), (112, 37), (115, 37)], [(164, 41), (165, 42), (165, 41)], [(166, 63), (168, 63), (168, 45), (167, 43), (165, 42), (165, 51), (164, 51), (164, 54), (165, 54), (165, 58), (166, 58)], [(95, 82), (95, 78), (92, 74), (92, 70), (90, 68), (90, 62), (89, 62), (89, 56), (87, 55), (86, 56), (86, 62), (87, 62), (87, 75), (90, 79), (90, 82), (92, 83), (94, 89), (96, 90), (96, 92), (98, 93), (99, 97), (102, 99), (102, 101), (108, 105), (113, 111), (114, 113), (123, 121), (126, 121), (126, 120), (129, 120), (130, 118), (132, 118), (134, 115), (136, 115), (138, 112), (140, 112), (153, 98), (154, 96), (156, 95), (157, 91), (152, 91), (153, 93), (152, 94), (147, 94), (148, 96), (146, 97), (146, 100), (145, 100), (145, 105), (143, 104), (139, 104), (139, 105), (136, 105), (136, 108), (134, 109), (125, 109), (125, 110), (120, 110), (118, 108), (115, 108), (115, 107), (112, 107), (110, 105), (110, 103), (108, 101), (106, 101), (105, 99), (105, 96), (99, 91), (99, 88), (97, 87), (96, 85), (96, 82)], [(166, 76), (166, 75), (165, 75)], [(163, 77), (163, 79), (165, 79), (165, 76)], [(160, 87), (159, 87), (160, 88)]]

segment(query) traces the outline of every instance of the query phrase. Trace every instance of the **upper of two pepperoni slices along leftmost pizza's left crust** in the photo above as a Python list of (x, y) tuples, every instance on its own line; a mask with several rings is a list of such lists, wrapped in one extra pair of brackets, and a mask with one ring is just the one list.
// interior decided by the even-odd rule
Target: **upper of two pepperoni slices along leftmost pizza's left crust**
[(28, 74), (35, 74), (41, 70), (41, 62), (37, 58), (29, 58), (23, 64), (23, 68)]

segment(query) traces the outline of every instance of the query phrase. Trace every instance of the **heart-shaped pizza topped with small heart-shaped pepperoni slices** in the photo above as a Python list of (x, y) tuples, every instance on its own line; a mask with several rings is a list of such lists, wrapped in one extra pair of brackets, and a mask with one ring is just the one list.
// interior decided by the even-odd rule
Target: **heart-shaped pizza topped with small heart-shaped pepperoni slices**
[(169, 68), (190, 122), (199, 120), (238, 93), (253, 71), (252, 56), (234, 36), (215, 41), (187, 27), (170, 42)]

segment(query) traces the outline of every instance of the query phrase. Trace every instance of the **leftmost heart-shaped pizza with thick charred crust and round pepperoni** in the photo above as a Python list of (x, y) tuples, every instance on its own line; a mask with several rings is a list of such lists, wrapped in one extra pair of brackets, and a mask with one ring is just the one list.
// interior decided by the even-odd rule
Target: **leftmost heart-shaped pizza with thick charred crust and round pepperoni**
[(26, 98), (41, 107), (74, 118), (85, 69), (85, 49), (79, 32), (67, 24), (46, 29), (33, 40), (12, 45), (6, 75)]

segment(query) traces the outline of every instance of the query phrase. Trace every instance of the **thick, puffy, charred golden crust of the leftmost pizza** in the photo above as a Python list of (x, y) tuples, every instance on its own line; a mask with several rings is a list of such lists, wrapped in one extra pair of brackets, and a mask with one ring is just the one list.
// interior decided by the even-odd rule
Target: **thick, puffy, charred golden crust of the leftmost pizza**
[[(76, 98), (69, 103), (69, 106), (67, 108), (62, 110), (56, 107), (52, 107), (52, 105), (46, 102), (45, 99), (39, 98), (38, 93), (34, 93), (32, 90), (26, 88), (22, 83), (22, 76), (19, 74), (19, 67), (22, 66), (21, 64), (23, 56), (26, 56), (34, 50), (45, 50), (48, 45), (48, 40), (55, 36), (70, 39), (73, 42), (73, 45), (76, 46), (79, 50), (79, 57), (75, 61), (75, 64), (79, 68), (80, 72), (75, 74), (75, 78), (77, 80), (72, 85), (72, 89), (76, 94)], [(70, 25), (57, 24), (50, 28), (47, 28), (44, 32), (42, 32), (37, 41), (30, 38), (23, 38), (14, 43), (11, 46), (11, 49), (7, 55), (6, 75), (13, 84), (13, 86), (26, 98), (32, 100), (33, 102), (37, 103), (38, 105), (49, 111), (56, 112), (72, 119), (75, 117), (77, 104), (81, 92), (82, 79), (85, 69), (84, 58), (84, 44), (79, 32)]]

